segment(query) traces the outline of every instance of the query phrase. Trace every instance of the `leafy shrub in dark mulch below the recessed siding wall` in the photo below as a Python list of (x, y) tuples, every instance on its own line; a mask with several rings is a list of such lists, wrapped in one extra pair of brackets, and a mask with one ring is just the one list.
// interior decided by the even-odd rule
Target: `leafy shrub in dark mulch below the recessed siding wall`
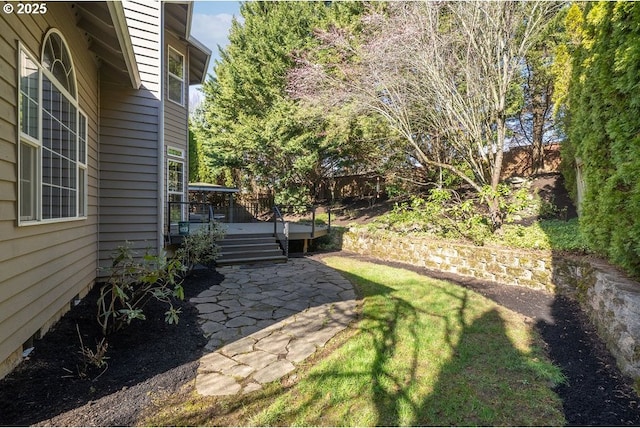
[(182, 275), (185, 267), (179, 258), (167, 259), (166, 253), (147, 252), (142, 261), (134, 257), (127, 243), (113, 257), (111, 275), (100, 288), (98, 323), (102, 333), (120, 330), (134, 319), (145, 319), (143, 308), (150, 298), (167, 304), (165, 321), (177, 324), (180, 309), (172, 299), (184, 298)]

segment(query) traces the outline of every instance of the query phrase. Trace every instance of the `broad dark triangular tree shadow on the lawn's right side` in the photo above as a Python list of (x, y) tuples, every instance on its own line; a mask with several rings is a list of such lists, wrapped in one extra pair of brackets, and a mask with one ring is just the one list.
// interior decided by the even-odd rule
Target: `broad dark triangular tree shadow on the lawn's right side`
[(555, 394), (540, 390), (546, 370), (513, 345), (501, 313), (492, 309), (465, 325), (414, 425), (560, 424)]

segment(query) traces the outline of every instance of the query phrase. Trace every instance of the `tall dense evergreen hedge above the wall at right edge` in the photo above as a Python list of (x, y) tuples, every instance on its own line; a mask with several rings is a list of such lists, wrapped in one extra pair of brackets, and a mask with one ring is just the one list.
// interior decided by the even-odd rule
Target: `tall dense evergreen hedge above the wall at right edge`
[(570, 13), (566, 176), (584, 183), (580, 226), (590, 246), (640, 275), (640, 3), (588, 3)]

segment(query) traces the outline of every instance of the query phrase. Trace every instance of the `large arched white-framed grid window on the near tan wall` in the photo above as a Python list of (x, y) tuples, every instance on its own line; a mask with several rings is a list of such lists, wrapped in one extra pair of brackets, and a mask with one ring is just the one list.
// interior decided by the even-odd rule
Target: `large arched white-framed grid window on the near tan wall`
[(50, 30), (40, 62), (21, 43), (18, 52), (18, 223), (84, 218), (87, 118), (66, 41)]

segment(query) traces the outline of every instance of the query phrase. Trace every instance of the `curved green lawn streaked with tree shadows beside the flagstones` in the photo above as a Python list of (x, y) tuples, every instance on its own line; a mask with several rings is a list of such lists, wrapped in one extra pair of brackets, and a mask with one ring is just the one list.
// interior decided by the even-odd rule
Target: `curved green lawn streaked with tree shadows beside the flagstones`
[[(331, 352), (245, 397), (160, 403), (160, 425), (563, 425), (562, 382), (525, 319), (454, 284), (347, 258), (362, 318)], [(335, 349), (333, 349), (335, 348)]]

